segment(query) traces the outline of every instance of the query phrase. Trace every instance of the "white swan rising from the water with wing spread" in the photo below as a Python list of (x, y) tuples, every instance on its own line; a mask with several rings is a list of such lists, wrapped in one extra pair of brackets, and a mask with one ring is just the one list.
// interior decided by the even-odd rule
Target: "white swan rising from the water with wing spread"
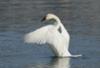
[(42, 21), (52, 21), (51, 24), (43, 26), (25, 35), (27, 43), (48, 43), (57, 57), (78, 57), (81, 55), (71, 55), (69, 52), (70, 36), (61, 23), (60, 19), (52, 14), (47, 14)]

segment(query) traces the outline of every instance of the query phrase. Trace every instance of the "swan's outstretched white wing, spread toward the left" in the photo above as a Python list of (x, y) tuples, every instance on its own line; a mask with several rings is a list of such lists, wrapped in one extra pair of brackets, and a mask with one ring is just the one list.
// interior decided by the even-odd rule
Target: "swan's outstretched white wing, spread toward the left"
[[(41, 27), (33, 32), (30, 32), (25, 35), (24, 39), (27, 43), (38, 43), (38, 44), (44, 44), (48, 42), (47, 39), (53, 36), (53, 33), (50, 33), (50, 30), (54, 27), (49, 25), (45, 27)], [(52, 39), (52, 38), (51, 38)]]

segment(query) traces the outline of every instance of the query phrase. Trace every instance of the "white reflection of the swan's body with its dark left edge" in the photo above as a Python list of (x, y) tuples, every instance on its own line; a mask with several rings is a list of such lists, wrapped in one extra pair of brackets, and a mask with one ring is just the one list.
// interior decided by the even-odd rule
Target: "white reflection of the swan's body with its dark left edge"
[(70, 68), (70, 58), (54, 58), (50, 68)]

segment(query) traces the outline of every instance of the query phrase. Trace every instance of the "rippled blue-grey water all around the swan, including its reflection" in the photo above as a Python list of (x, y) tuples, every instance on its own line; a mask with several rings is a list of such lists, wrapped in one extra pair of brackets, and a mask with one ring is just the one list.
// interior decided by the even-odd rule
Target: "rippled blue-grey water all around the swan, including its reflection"
[[(0, 0), (0, 68), (100, 68), (99, 0)], [(23, 36), (58, 15), (71, 34), (70, 52), (54, 58), (47, 45), (26, 44)]]

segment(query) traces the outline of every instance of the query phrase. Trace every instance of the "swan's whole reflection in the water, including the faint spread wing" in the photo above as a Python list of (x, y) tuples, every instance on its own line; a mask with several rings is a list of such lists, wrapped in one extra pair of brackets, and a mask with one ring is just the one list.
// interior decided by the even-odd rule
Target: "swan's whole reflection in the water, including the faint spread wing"
[(46, 63), (37, 63), (24, 68), (70, 68), (70, 58), (53, 58)]

